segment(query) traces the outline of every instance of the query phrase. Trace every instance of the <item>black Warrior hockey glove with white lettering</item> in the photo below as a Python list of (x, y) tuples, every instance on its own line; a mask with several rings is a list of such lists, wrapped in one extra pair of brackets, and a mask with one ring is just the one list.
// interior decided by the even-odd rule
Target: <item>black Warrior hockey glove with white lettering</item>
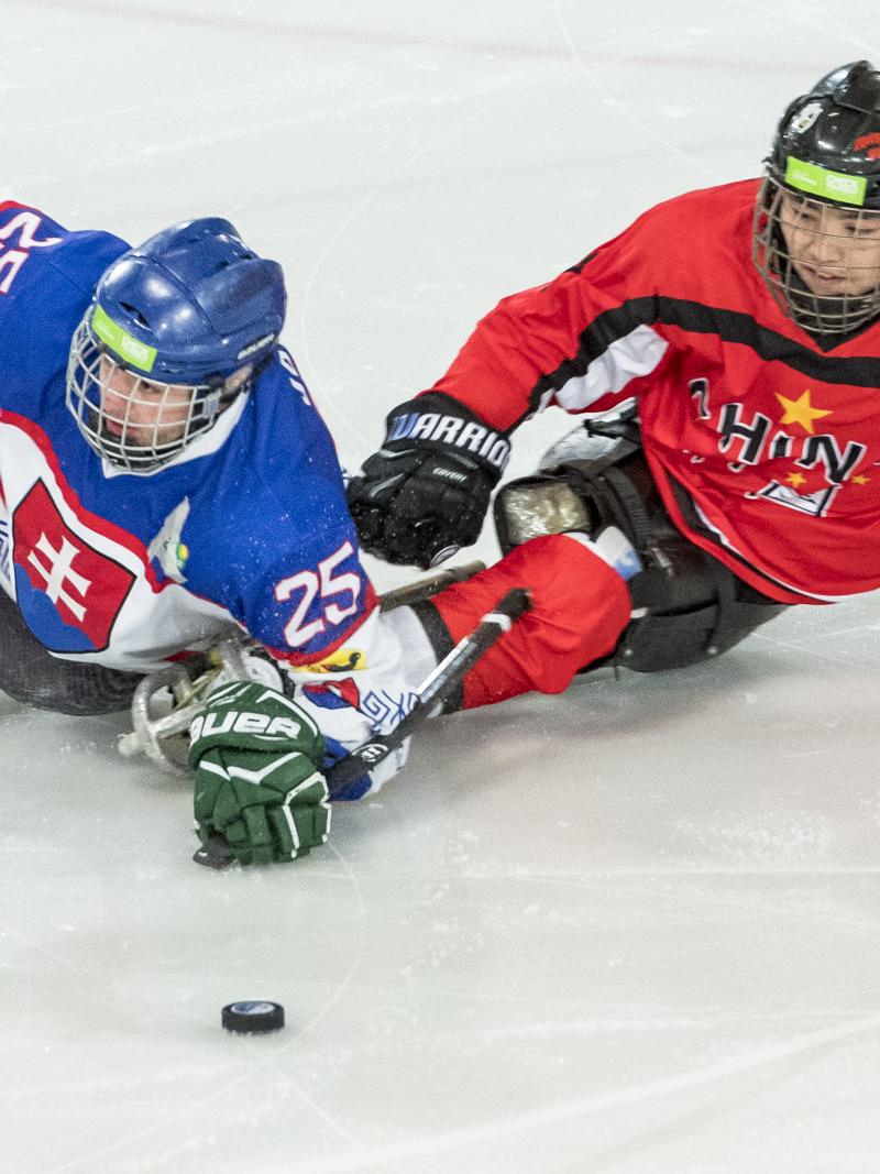
[(381, 448), (348, 484), (348, 508), (364, 549), (425, 571), (480, 537), (510, 441), (439, 392), (386, 423)]

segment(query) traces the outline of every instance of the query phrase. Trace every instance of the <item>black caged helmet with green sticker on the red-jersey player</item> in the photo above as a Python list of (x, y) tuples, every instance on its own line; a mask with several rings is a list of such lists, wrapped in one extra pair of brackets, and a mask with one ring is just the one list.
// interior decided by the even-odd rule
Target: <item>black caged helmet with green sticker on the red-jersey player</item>
[[(880, 212), (880, 73), (869, 61), (855, 61), (796, 97), (779, 121), (765, 164), (753, 258), (783, 310), (819, 335), (848, 333), (880, 316), (880, 270), (859, 268), (852, 244), (865, 228), (876, 228)], [(839, 289), (828, 282), (827, 290), (817, 292), (805, 283), (810, 265), (790, 256), (786, 228), (798, 230), (801, 241), (839, 242), (844, 259), (827, 263)], [(840, 217), (835, 222), (834, 211), (823, 214), (823, 208), (849, 214), (846, 236)]]

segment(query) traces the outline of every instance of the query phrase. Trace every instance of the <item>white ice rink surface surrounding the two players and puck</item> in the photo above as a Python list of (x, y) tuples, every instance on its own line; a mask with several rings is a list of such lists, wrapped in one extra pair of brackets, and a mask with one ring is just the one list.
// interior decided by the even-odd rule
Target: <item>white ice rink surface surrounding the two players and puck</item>
[[(352, 465), (499, 297), (880, 62), (867, 0), (0, 0), (0, 34), (4, 194), (233, 220)], [(325, 850), (228, 873), (122, 718), (0, 697), (0, 1170), (875, 1174), (879, 679), (873, 600), (790, 612), (438, 722)], [(252, 997), (284, 1032), (222, 1031)]]

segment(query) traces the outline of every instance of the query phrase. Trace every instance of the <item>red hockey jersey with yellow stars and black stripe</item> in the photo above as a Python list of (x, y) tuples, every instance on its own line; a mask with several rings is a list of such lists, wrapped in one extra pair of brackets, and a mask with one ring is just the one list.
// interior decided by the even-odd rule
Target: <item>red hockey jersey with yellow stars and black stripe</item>
[(880, 587), (880, 324), (785, 316), (751, 259), (758, 187), (670, 200), (505, 298), (433, 390), (505, 431), (635, 398), (676, 525), (774, 599), (835, 600)]

